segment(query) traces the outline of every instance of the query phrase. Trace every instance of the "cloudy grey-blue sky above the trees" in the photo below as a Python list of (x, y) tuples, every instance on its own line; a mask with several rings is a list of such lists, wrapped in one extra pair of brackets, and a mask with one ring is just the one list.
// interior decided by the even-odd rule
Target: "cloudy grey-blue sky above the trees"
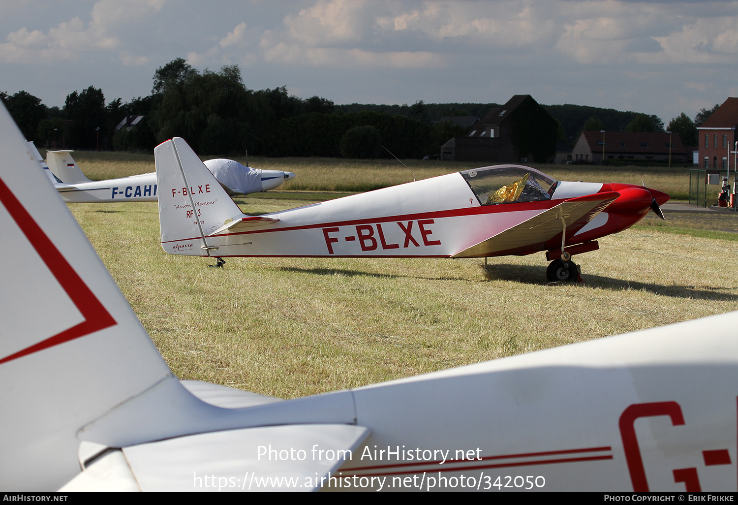
[(738, 96), (738, 1), (0, 0), (0, 91), (151, 94), (174, 58), (334, 103), (573, 103), (656, 114)]

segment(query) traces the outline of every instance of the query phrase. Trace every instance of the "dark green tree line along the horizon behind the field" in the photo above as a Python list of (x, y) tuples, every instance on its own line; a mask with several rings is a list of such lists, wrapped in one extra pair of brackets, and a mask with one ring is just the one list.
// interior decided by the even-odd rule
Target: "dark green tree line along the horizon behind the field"
[[(285, 86), (247, 89), (238, 66), (199, 72), (176, 58), (156, 69), (151, 95), (106, 104), (94, 86), (67, 95), (64, 106), (47, 107), (20, 91), (0, 92), (27, 140), (40, 147), (153, 151), (171, 137), (183, 137), (199, 154), (249, 154), (268, 157), (434, 157), (441, 145), (465, 134), (442, 116), (483, 117), (495, 103), (336, 106), (323, 97), (301, 99)], [(559, 140), (573, 143), (581, 131), (664, 131), (656, 116), (596, 107), (543, 106), (559, 123)], [(696, 145), (697, 126), (714, 109), (692, 120), (682, 113), (666, 129), (685, 145)], [(143, 116), (133, 128), (116, 126), (128, 116)], [(391, 154), (390, 154), (391, 152)]]

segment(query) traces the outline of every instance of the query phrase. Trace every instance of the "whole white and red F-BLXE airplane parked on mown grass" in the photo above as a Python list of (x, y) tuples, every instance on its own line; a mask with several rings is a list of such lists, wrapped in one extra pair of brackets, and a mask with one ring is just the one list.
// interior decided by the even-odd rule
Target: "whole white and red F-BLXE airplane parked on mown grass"
[(187, 142), (154, 149), (167, 253), (229, 256), (480, 258), (547, 251), (550, 281), (573, 281), (571, 256), (596, 250), (669, 195), (627, 184), (556, 181), (497, 165), (246, 216)]

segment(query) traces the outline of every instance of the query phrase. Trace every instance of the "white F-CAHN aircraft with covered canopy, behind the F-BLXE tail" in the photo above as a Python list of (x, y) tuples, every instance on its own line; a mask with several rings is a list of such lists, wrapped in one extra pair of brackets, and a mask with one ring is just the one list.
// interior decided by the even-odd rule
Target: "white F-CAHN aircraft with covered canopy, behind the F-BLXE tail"
[[(74, 151), (46, 151), (44, 162), (33, 142), (28, 143), (64, 202), (156, 202), (159, 191), (154, 172), (91, 181), (72, 158)], [(230, 196), (272, 190), (295, 177), (292, 172), (246, 167), (233, 159), (208, 159), (204, 165)]]

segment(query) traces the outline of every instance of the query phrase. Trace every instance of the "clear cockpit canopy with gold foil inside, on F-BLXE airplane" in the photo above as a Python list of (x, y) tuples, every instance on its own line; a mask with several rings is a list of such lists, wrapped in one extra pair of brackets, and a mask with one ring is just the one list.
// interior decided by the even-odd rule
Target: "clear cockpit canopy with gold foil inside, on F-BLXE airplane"
[(460, 172), (480, 205), (550, 200), (559, 183), (535, 168), (494, 165)]

